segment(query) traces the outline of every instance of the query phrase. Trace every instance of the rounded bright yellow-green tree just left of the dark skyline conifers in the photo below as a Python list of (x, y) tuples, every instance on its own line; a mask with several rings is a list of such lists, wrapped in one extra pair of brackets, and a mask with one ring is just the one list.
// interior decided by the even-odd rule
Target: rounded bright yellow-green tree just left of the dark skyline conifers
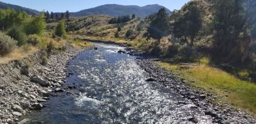
[(24, 30), (27, 35), (42, 35), (45, 28), (46, 22), (43, 14), (32, 16), (24, 24)]

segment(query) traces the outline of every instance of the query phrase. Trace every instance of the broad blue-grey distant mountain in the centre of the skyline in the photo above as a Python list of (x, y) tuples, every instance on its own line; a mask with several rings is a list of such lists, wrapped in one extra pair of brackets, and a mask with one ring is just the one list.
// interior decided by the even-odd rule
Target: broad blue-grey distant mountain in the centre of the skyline
[[(121, 16), (127, 14), (135, 14), (137, 17), (146, 17), (152, 13), (158, 12), (164, 6), (154, 4), (146, 6), (136, 5), (117, 5), (117, 4), (106, 4), (92, 9), (86, 9), (79, 12), (72, 13), (72, 16), (86, 16), (86, 15), (109, 15), (109, 16)], [(166, 7), (164, 7), (166, 9)], [(167, 13), (171, 11), (166, 9)]]

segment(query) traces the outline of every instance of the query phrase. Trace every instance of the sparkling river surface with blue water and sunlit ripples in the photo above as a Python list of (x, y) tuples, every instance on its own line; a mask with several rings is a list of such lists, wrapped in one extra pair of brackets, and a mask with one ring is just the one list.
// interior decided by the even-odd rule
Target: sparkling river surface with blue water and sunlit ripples
[[(98, 51), (85, 51), (70, 61), (64, 87), (78, 87), (78, 94), (59, 93), (44, 103), (41, 111), (22, 118), (29, 123), (190, 123), (195, 116), (199, 123), (211, 123), (193, 104), (160, 82), (147, 82), (148, 73), (136, 57), (118, 54), (123, 47), (96, 44)], [(70, 92), (76, 92), (76, 91)], [(81, 92), (79, 93), (78, 92)]]

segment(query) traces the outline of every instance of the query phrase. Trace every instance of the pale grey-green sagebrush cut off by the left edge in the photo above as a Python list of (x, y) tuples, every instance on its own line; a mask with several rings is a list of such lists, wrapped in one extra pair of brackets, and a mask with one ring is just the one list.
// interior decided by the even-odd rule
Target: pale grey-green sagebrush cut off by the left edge
[(16, 44), (16, 40), (0, 32), (0, 55), (10, 53)]

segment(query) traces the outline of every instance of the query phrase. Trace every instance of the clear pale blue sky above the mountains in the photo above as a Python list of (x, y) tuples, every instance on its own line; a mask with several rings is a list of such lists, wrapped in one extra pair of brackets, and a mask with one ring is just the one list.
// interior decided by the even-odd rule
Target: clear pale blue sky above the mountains
[(103, 4), (139, 5), (159, 4), (169, 10), (179, 10), (181, 6), (190, 0), (0, 0), (4, 3), (15, 4), (38, 11), (53, 12), (77, 12)]

